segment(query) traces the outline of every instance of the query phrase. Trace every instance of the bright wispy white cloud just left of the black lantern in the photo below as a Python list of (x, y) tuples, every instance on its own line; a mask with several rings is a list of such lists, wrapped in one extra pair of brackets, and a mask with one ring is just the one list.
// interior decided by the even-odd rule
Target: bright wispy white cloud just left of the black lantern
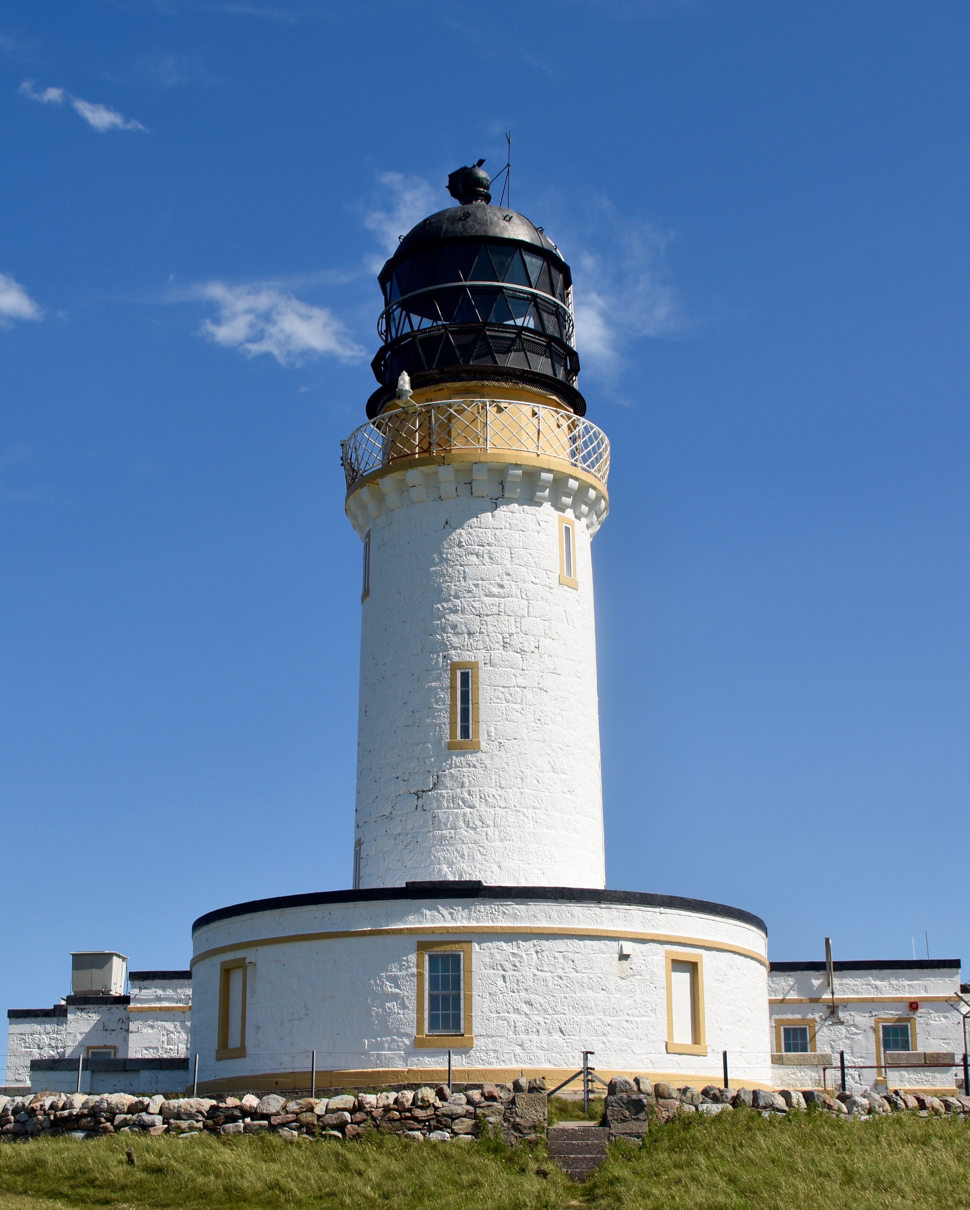
[(202, 333), (247, 357), (270, 353), (281, 365), (300, 365), (322, 356), (341, 362), (365, 356), (333, 311), (302, 302), (276, 286), (208, 282), (196, 294), (218, 309), (215, 319), (203, 322)]

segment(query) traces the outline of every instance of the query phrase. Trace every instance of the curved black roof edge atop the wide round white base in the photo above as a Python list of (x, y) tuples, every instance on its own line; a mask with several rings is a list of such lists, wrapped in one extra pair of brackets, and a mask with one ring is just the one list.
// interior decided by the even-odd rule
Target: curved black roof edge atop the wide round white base
[[(382, 903), (395, 899), (514, 899), (545, 903), (620, 904), (631, 908), (671, 908), (680, 911), (722, 916), (744, 924), (754, 924), (764, 935), (768, 926), (760, 916), (741, 908), (709, 903), (706, 899), (683, 899), (680, 895), (657, 895), (647, 891), (597, 891), (595, 887), (490, 887), (480, 882), (409, 882), (405, 887), (373, 887), (366, 891), (317, 891), (304, 895), (275, 895), (271, 899), (250, 899), (248, 903), (216, 908), (200, 916), (192, 924), (192, 935), (206, 924), (250, 912), (278, 911), (282, 908), (323, 908), (328, 904)], [(527, 926), (522, 926), (527, 932)]]

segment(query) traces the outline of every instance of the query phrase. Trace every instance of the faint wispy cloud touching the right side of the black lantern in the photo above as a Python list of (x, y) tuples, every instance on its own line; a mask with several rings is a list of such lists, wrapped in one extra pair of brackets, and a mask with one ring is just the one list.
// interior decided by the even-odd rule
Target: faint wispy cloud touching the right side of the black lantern
[(636, 336), (670, 336), (688, 327), (664, 257), (672, 240), (649, 223), (597, 207), (599, 248), (573, 258), (576, 345), (585, 364), (616, 370)]

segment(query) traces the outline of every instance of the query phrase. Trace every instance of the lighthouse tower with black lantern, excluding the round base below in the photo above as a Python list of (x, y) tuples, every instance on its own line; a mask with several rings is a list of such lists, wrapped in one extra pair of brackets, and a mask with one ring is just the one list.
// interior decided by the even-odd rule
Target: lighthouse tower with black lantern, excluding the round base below
[(590, 542), (610, 445), (576, 387), (570, 266), (490, 206), (380, 275), (373, 419), (343, 444), (363, 541), (354, 878), (604, 887)]

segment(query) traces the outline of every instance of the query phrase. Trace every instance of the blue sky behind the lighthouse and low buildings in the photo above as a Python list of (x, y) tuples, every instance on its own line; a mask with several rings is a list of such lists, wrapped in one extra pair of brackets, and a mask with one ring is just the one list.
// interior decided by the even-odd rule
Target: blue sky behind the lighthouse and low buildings
[(572, 263), (612, 887), (964, 956), (965, 5), (7, 0), (2, 1004), (347, 886), (375, 272)]

